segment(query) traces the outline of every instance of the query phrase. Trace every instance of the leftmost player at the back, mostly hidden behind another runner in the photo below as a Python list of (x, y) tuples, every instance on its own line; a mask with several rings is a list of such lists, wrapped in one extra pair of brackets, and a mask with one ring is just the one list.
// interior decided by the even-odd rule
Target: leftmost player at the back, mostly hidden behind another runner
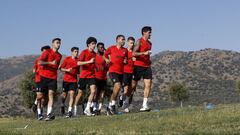
[[(47, 49), (50, 49), (50, 46), (43, 46), (41, 48), (41, 52), (43, 52)], [(42, 66), (38, 64), (39, 59), (40, 58), (36, 59), (36, 61), (34, 62), (34, 66), (33, 66), (33, 73), (35, 73), (35, 84), (36, 84), (35, 92), (37, 94), (35, 103), (33, 105), (33, 109), (36, 108), (36, 109), (34, 109), (34, 111), (35, 110), (37, 111), (38, 120), (42, 120), (43, 119), (42, 111), (43, 111), (43, 103), (44, 103), (44, 94), (46, 94), (46, 93), (43, 93), (44, 91), (41, 90), (40, 71), (42, 69)]]

